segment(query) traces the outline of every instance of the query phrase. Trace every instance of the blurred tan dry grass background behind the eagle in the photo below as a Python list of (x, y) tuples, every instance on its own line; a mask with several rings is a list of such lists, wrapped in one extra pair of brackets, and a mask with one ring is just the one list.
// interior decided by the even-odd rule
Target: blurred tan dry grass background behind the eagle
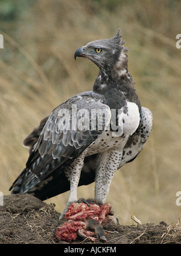
[[(92, 90), (98, 69), (86, 59), (75, 62), (74, 51), (112, 37), (120, 27), (132, 49), (129, 71), (136, 91), (153, 112), (153, 130), (139, 157), (116, 172), (107, 202), (120, 223), (132, 223), (133, 214), (142, 223), (174, 222), (181, 191), (180, 1), (8, 0), (0, 5), (2, 14), (13, 17), (0, 23), (0, 190), (9, 194), (24, 169), (27, 134), (64, 100)], [(46, 202), (62, 211), (68, 196)], [(90, 196), (94, 184), (78, 188), (78, 197)]]

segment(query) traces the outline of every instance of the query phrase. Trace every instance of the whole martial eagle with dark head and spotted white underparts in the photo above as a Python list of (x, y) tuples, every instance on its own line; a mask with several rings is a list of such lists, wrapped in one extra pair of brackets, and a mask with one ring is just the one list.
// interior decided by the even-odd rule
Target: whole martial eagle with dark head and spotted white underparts
[(12, 194), (45, 200), (70, 190), (69, 204), (77, 200), (77, 186), (95, 182), (95, 200), (105, 203), (113, 175), (138, 156), (152, 126), (128, 70), (128, 50), (119, 29), (75, 51), (75, 59), (99, 67), (93, 90), (60, 104), (24, 140), (30, 156)]

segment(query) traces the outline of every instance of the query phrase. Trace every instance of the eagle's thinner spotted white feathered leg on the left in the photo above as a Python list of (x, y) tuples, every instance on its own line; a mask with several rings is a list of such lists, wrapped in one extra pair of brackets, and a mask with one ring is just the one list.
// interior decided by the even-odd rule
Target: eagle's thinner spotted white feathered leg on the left
[(75, 159), (71, 166), (66, 169), (66, 175), (68, 175), (68, 179), (70, 180), (70, 195), (68, 203), (66, 203), (66, 207), (60, 215), (59, 219), (63, 219), (65, 217), (65, 212), (68, 210), (68, 207), (71, 205), (71, 203), (77, 201), (77, 186), (80, 179), (80, 172), (83, 168), (85, 154), (86, 152), (81, 154), (77, 159)]

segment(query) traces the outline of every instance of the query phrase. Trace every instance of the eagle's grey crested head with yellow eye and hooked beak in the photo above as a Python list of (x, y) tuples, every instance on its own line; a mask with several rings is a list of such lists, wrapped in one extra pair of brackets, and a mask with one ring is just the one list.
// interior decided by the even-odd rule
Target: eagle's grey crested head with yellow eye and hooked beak
[(86, 57), (94, 62), (100, 70), (116, 71), (121, 75), (122, 71), (127, 71), (127, 51), (124, 47), (124, 40), (121, 39), (120, 29), (113, 38), (92, 41), (78, 48), (74, 57)]

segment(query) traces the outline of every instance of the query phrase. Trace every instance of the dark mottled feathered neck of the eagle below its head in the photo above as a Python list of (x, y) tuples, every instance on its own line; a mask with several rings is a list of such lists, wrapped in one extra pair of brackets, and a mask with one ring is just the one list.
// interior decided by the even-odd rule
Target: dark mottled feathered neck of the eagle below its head
[[(129, 100), (140, 105), (138, 96), (135, 92), (134, 82), (128, 70), (127, 48), (121, 50), (121, 53), (115, 58), (113, 65), (104, 65), (100, 67), (100, 72), (94, 83), (93, 91), (103, 94), (105, 99), (109, 101), (109, 95), (112, 95), (109, 105), (113, 108), (119, 108), (119, 103), (115, 106), (113, 102), (121, 102), (120, 99)], [(107, 102), (108, 102), (107, 101)], [(120, 103), (120, 104), (121, 104)]]

